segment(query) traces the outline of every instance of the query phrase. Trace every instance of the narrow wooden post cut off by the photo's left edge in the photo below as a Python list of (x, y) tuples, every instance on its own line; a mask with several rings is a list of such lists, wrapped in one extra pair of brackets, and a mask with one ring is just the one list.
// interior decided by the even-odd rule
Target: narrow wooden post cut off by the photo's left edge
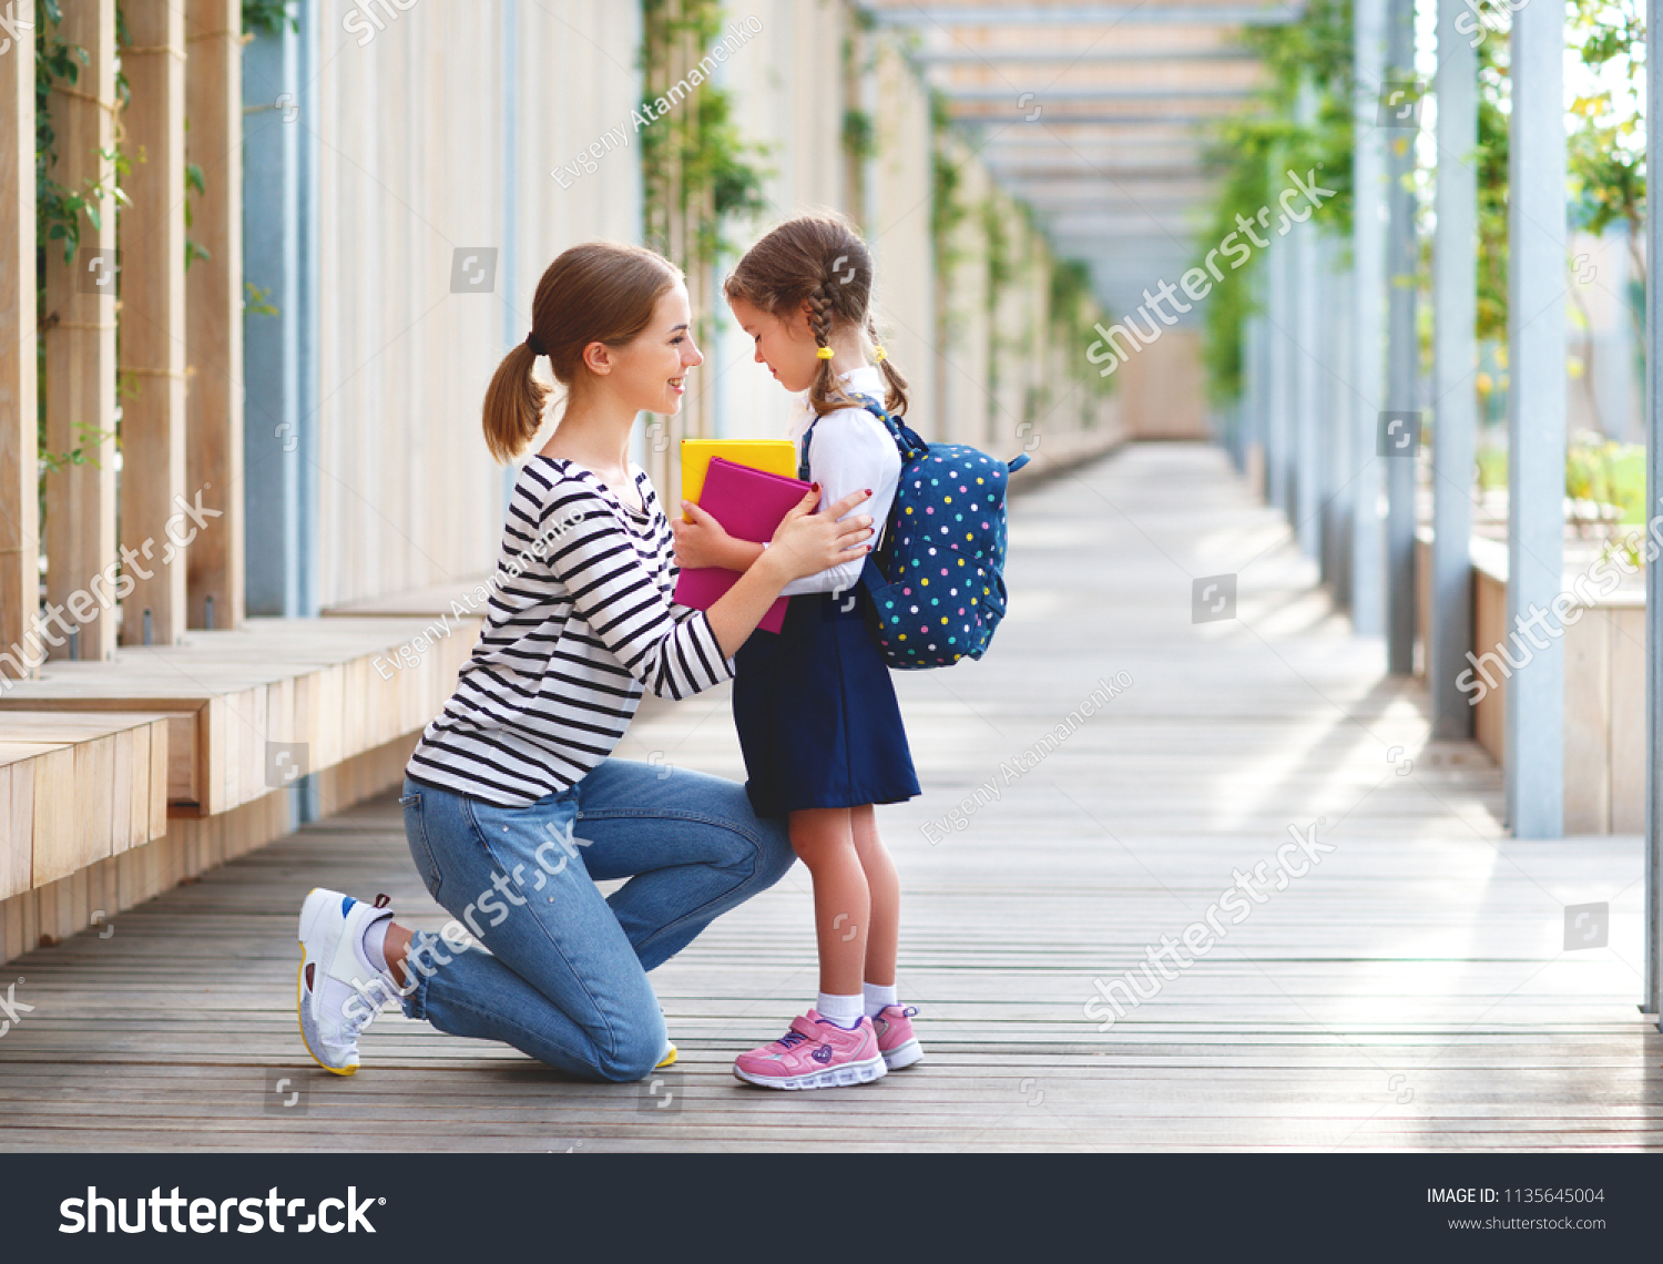
[[(35, 504), (35, 35), (0, 55), (0, 677), (27, 680), (40, 604)], [(18, 649), (12, 649), (18, 647)]]

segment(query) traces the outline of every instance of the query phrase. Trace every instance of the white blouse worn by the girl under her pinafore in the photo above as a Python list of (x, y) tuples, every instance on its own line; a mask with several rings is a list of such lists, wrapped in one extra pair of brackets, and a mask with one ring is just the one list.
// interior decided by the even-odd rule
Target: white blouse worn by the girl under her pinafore
[[(870, 396), (883, 402), (888, 384), (876, 364), (863, 364), (838, 374), (848, 394)], [(815, 421), (815, 411), (803, 396), (800, 412), (792, 426), (790, 439), (802, 454), (802, 439)], [(808, 477), (820, 484), (820, 504), (835, 504), (850, 492), (871, 487), (871, 499), (850, 509), (850, 514), (871, 514), (873, 536), (868, 544), (876, 551), (883, 526), (890, 521), (895, 504), (895, 487), (901, 479), (901, 454), (890, 431), (863, 407), (840, 407), (827, 412), (815, 426), (808, 446)], [(803, 575), (787, 584), (780, 595), (795, 597), (803, 592), (850, 592), (860, 582), (865, 557), (827, 567), (820, 574)]]

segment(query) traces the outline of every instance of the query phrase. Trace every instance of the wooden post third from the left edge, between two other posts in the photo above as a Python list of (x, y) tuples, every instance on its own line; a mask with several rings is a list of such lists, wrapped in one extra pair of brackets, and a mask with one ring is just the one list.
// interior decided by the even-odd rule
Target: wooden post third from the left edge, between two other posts
[(135, 161), (121, 215), (121, 376), (135, 393), (121, 407), (121, 544), (140, 557), (121, 644), (171, 645), (185, 630), (183, 546), (225, 519), (198, 526), (181, 512), (195, 504), (185, 486), (185, 10), (138, 0), (125, 12)]

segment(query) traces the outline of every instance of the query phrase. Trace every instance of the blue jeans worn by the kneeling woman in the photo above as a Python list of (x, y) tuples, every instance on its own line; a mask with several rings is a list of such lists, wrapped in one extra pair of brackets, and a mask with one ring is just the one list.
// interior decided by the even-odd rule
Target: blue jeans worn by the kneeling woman
[[(419, 933), (404, 1013), (587, 1079), (652, 1071), (669, 1038), (647, 971), (795, 860), (743, 787), (667, 765), (604, 760), (526, 808), (406, 778), (399, 805), (429, 895), (491, 950)], [(602, 898), (605, 878), (629, 881)]]

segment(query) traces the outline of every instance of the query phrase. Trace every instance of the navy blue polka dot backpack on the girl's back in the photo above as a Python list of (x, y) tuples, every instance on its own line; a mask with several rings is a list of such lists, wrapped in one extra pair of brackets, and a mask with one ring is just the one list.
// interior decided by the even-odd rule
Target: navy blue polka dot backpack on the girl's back
[[(1004, 491), (1028, 457), (999, 461), (963, 444), (925, 442), (880, 402), (860, 399), (901, 452), (895, 507), (873, 554), (876, 575), (866, 567), (868, 619), (883, 660), (921, 669), (980, 659), (1004, 617)], [(812, 436), (813, 426), (805, 454)]]

